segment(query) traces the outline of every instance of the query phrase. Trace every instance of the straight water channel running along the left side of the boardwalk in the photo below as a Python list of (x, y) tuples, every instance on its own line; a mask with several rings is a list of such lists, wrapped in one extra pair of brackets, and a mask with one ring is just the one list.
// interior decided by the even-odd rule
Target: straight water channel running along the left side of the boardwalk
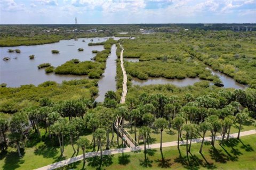
[(116, 91), (116, 59), (116, 45), (113, 45), (106, 63), (105, 73), (99, 80), (99, 96), (96, 98), (96, 101), (98, 102), (104, 101), (107, 91)]

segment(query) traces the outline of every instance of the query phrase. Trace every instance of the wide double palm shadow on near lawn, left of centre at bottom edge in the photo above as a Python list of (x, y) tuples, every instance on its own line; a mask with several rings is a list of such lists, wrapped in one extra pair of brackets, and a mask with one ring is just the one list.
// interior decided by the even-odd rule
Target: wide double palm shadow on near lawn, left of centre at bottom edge
[(104, 155), (103, 159), (101, 157), (95, 156), (91, 158), (87, 158), (88, 165), (96, 168), (101, 169), (101, 166), (110, 166), (113, 164), (112, 158), (114, 155)]

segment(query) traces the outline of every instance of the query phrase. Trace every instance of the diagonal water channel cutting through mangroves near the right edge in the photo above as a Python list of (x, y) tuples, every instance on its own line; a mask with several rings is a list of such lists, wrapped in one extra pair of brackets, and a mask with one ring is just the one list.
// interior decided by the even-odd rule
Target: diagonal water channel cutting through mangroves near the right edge
[(247, 87), (243, 84), (238, 83), (233, 78), (228, 77), (226, 74), (223, 74), (219, 71), (214, 71), (210, 66), (206, 66), (206, 69), (210, 70), (213, 75), (218, 75), (225, 88), (245, 89)]

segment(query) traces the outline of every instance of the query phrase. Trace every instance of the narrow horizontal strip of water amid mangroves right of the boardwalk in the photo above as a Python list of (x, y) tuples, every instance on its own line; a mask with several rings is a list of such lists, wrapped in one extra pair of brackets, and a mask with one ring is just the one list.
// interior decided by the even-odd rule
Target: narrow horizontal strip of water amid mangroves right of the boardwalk
[(186, 79), (166, 79), (166, 78), (148, 78), (147, 80), (140, 80), (138, 78), (132, 78), (132, 84), (139, 86), (146, 86), (150, 84), (174, 84), (178, 87), (184, 87), (193, 85), (196, 82), (201, 81), (199, 78), (186, 78)]

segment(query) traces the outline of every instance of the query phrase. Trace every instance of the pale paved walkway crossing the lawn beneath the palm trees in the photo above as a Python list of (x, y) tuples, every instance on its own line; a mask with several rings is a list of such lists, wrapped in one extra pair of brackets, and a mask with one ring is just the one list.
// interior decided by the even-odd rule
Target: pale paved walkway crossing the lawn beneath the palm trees
[[(230, 138), (237, 138), (237, 134), (238, 133), (230, 134)], [(246, 135), (252, 135), (252, 134), (256, 134), (256, 130), (241, 132), (240, 137), (243, 137), (243, 136), (246, 136)], [(216, 140), (221, 140), (221, 136), (219, 135), (215, 139)], [(206, 141), (211, 141), (211, 137), (206, 137), (205, 142)], [(202, 138), (192, 140), (192, 143), (199, 143), (199, 142), (202, 142)], [(180, 141), (180, 145), (185, 145), (185, 144), (186, 144), (186, 141)], [(163, 143), (163, 147), (171, 147), (171, 146), (177, 146), (177, 145), (178, 145), (178, 141)], [(147, 146), (147, 149), (155, 149), (155, 148), (160, 148), (160, 143), (156, 143), (156, 144), (152, 144), (152, 145)], [(105, 150), (105, 151), (103, 151), (103, 155), (113, 155), (113, 154), (120, 154), (120, 153), (132, 152), (132, 151), (138, 151), (138, 150), (144, 150), (144, 146)], [(100, 152), (87, 152), (85, 154), (85, 158), (94, 157), (94, 156), (100, 156)], [(59, 167), (62, 167), (62, 166), (68, 165), (68, 164), (75, 163), (78, 160), (83, 160), (83, 155), (79, 155), (77, 157), (62, 160), (58, 163), (54, 163), (54, 164), (51, 164), (51, 165), (47, 165), (47, 166), (38, 168), (37, 170), (55, 169), (55, 168), (59, 168)]]

